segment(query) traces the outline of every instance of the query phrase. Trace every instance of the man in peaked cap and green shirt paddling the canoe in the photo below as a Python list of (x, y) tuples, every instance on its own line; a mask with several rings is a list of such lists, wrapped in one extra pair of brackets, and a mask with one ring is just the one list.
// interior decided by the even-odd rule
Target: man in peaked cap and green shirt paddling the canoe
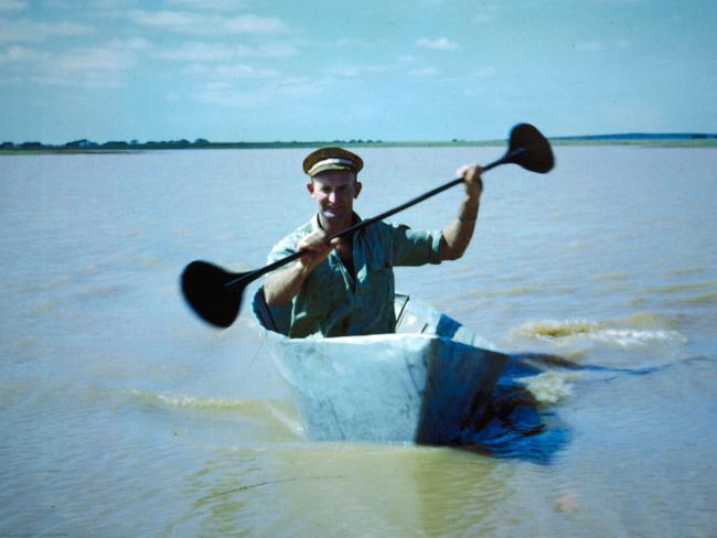
[(458, 259), (471, 240), (483, 190), (479, 165), (459, 170), (465, 197), (458, 217), (441, 232), (379, 222), (327, 243), (361, 220), (353, 202), (361, 194), (362, 168), (358, 155), (341, 148), (321, 148), (303, 161), (311, 179), (307, 189), (319, 211), (274, 247), (269, 262), (297, 250), (307, 255), (271, 273), (264, 284), (267, 304), (292, 303), (291, 337), (395, 332), (393, 267)]

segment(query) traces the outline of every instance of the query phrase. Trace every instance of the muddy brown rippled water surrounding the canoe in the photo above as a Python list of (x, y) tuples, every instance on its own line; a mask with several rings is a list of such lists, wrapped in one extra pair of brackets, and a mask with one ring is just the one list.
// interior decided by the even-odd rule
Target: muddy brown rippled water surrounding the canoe
[[(365, 150), (357, 209), (496, 152)], [(717, 534), (717, 151), (497, 169), (465, 257), (397, 271), (506, 352), (613, 368), (537, 364), (492, 454), (308, 442), (248, 309), (217, 332), (183, 305), (186, 262), (259, 267), (308, 219), (302, 157), (0, 157), (0, 535)], [(441, 228), (459, 200), (398, 217)]]

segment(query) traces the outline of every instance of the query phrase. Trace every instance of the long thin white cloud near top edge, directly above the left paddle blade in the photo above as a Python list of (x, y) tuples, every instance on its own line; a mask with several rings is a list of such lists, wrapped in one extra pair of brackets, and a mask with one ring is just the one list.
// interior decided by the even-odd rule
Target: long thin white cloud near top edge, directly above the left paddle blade
[(191, 35), (281, 34), (288, 31), (288, 26), (281, 19), (254, 14), (223, 17), (191, 11), (131, 10), (128, 17), (137, 24)]

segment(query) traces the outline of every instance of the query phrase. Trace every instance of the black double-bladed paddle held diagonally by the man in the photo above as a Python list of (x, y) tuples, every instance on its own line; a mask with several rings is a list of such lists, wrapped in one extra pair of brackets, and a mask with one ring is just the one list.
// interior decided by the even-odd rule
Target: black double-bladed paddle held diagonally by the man
[[(493, 161), (483, 166), (483, 172), (507, 163), (517, 164), (531, 172), (544, 174), (553, 169), (555, 159), (549, 142), (541, 134), (541, 131), (532, 125), (520, 123), (511, 130), (509, 148), (505, 154), (497, 161)], [(350, 228), (328, 237), (327, 243), (338, 237), (349, 236), (361, 228), (365, 228), (390, 215), (395, 215), (460, 183), (463, 183), (462, 177), (451, 180), (405, 204), (388, 209), (373, 218), (361, 220)], [(236, 320), (242, 305), (242, 294), (250, 282), (267, 272), (290, 263), (304, 254), (304, 251), (300, 250), (266, 267), (247, 272), (229, 272), (206, 261), (192, 261), (184, 268), (181, 277), (184, 299), (186, 299), (189, 305), (202, 320), (216, 327), (226, 329)]]

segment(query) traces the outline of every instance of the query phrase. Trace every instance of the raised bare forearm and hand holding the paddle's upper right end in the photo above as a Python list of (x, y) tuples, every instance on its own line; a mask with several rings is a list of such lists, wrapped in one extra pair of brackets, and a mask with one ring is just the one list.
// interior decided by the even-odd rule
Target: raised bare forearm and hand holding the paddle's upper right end
[(483, 192), (481, 172), (482, 169), (478, 164), (467, 165), (458, 171), (458, 174), (465, 181), (465, 197), (459, 207), (458, 217), (443, 228), (443, 241), (440, 246), (441, 260), (457, 260), (463, 256), (471, 237), (473, 237)]

